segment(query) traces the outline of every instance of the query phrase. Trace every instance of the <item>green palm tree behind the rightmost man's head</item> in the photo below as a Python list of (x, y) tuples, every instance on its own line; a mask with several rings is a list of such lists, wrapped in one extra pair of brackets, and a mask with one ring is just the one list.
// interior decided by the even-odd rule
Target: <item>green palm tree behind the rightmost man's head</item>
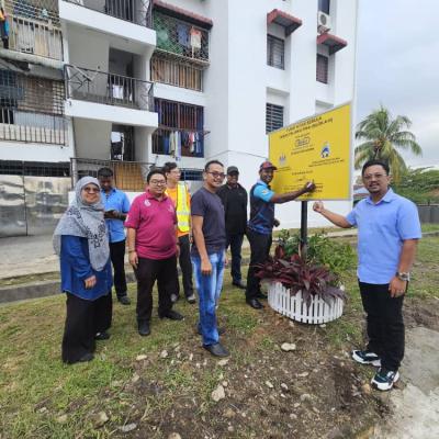
[(387, 161), (393, 179), (398, 182), (407, 166), (397, 149), (423, 155), (415, 135), (407, 131), (410, 125), (407, 116), (392, 119), (389, 110), (382, 105), (369, 114), (357, 125), (356, 138), (365, 142), (356, 147), (356, 169), (368, 160), (381, 159)]

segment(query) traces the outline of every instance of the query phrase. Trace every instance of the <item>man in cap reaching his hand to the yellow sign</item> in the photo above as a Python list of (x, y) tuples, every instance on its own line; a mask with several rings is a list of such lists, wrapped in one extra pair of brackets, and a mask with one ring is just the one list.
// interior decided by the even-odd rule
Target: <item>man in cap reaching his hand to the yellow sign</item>
[(302, 189), (294, 192), (277, 194), (270, 189), (274, 171), (278, 168), (270, 161), (264, 161), (259, 167), (259, 180), (250, 190), (250, 219), (247, 225), (247, 237), (250, 241), (250, 267), (247, 274), (246, 302), (255, 309), (263, 305), (258, 299), (267, 299), (260, 291), (260, 280), (255, 275), (255, 264), (263, 263), (269, 254), (272, 241), (273, 226), (279, 226), (274, 218), (274, 204), (293, 201), (306, 192), (312, 192), (315, 184), (308, 181)]

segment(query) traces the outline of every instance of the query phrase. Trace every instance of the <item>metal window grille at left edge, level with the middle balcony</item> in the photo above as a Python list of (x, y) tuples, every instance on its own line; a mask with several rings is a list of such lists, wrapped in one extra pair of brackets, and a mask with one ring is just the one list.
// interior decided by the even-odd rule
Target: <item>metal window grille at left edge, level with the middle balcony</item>
[(67, 145), (64, 83), (0, 70), (0, 139)]

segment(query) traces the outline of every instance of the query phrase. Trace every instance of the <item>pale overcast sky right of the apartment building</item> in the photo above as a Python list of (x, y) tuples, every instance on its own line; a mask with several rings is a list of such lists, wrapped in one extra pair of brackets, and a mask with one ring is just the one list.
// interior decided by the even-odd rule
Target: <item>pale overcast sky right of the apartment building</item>
[(408, 116), (423, 157), (439, 165), (439, 0), (359, 0), (357, 122), (380, 103)]

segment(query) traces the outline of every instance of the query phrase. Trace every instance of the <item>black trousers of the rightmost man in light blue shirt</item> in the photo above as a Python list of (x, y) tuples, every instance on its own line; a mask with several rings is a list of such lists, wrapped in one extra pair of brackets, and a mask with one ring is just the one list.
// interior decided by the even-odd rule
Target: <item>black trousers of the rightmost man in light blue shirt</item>
[(359, 282), (367, 313), (368, 350), (381, 357), (381, 365), (396, 371), (404, 358), (404, 295), (392, 297), (389, 284)]

